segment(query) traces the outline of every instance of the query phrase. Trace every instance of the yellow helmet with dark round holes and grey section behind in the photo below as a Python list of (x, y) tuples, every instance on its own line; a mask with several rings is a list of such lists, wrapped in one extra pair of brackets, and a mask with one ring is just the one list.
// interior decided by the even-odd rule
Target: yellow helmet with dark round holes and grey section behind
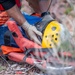
[[(42, 47), (53, 48), (55, 45), (60, 44), (61, 35), (64, 33), (64, 26), (54, 20), (49, 12), (43, 14), (42, 21), (38, 22), (36, 27), (43, 33), (43, 38), (41, 40)], [(64, 37), (64, 34), (62, 37)]]

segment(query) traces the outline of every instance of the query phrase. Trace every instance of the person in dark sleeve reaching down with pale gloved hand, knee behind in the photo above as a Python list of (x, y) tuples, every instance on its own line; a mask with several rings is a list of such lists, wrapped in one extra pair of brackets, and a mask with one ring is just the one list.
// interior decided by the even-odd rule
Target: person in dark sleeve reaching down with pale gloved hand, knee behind
[[(18, 2), (19, 0), (17, 0)], [(49, 0), (27, 0), (29, 5), (34, 9), (37, 13), (43, 13), (47, 10), (49, 6)], [(22, 15), (20, 9), (16, 5), (16, 0), (0, 0), (0, 4), (4, 10), (6, 10), (7, 14), (14, 18), (16, 22), (26, 31), (29, 38), (41, 45), (40, 41), (37, 38), (37, 35), (42, 37), (42, 33), (36, 29), (35, 26), (30, 25), (24, 16)]]

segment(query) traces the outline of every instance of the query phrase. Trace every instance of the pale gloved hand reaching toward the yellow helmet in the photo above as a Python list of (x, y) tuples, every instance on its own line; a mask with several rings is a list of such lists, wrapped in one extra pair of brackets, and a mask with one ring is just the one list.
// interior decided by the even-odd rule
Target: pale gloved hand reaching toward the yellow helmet
[(30, 25), (27, 21), (24, 22), (23, 25), (21, 25), (21, 26), (26, 31), (30, 40), (41, 45), (41, 42), (38, 40), (37, 36), (40, 36), (42, 38), (42, 33), (40, 31), (38, 31), (35, 26)]

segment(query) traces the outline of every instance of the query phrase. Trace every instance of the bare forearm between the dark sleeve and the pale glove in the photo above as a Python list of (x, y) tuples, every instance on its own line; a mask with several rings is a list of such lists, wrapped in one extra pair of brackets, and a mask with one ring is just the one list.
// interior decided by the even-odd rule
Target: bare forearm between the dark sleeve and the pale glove
[(13, 6), (12, 8), (10, 8), (9, 10), (6, 10), (8, 15), (11, 16), (12, 18), (15, 19), (15, 21), (17, 21), (19, 23), (19, 25), (22, 25), (26, 20), (23, 17), (23, 15), (21, 14), (19, 8), (17, 7), (17, 5)]

